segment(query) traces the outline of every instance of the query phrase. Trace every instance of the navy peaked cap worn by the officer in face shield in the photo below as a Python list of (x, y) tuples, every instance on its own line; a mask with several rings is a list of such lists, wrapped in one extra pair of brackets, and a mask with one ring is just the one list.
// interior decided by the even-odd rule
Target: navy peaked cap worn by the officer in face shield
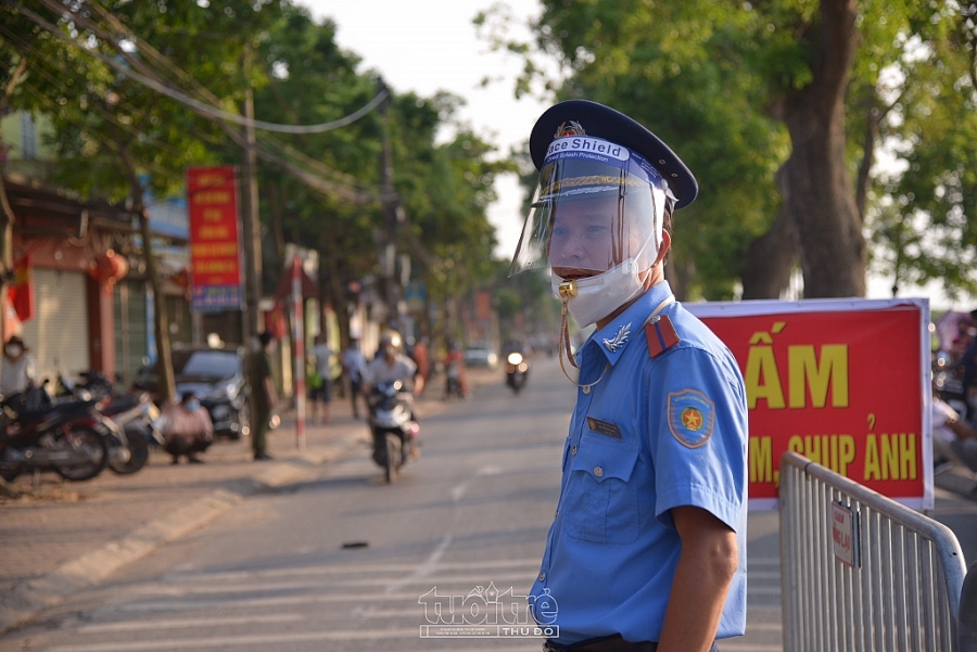
[(530, 154), (536, 169), (543, 167), (546, 150), (556, 140), (557, 130), (571, 120), (579, 123), (587, 136), (609, 140), (647, 158), (668, 181), (677, 200), (676, 209), (688, 206), (699, 194), (696, 178), (669, 145), (620, 111), (589, 100), (567, 100), (540, 116), (530, 136)]

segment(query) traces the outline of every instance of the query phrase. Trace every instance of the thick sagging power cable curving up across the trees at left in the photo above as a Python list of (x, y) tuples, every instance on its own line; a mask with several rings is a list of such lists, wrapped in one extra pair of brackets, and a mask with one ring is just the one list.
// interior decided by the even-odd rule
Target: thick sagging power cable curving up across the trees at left
[[(60, 38), (61, 40), (78, 48), (79, 50), (85, 51), (89, 55), (94, 56), (94, 57), (99, 59), (100, 61), (102, 61), (103, 63), (112, 66), (113, 68), (118, 71), (119, 74), (122, 74), (126, 77), (129, 77), (130, 79), (134, 79), (134, 80), (142, 84), (143, 86), (147, 86), (147, 87), (153, 89), (154, 91), (156, 91), (161, 94), (164, 94), (173, 100), (176, 100), (177, 102), (180, 102), (192, 108), (195, 108), (196, 111), (204, 113), (205, 115), (207, 115), (210, 117), (225, 120), (228, 123), (233, 123), (236, 125), (252, 126), (255, 129), (262, 129), (264, 131), (275, 131), (278, 133), (292, 133), (292, 135), (325, 133), (326, 131), (332, 131), (334, 129), (340, 129), (342, 127), (352, 125), (353, 123), (355, 123), (363, 116), (365, 116), (368, 113), (370, 113), (371, 111), (373, 111), (390, 94), (390, 93), (388, 93), (388, 91), (383, 90), (383, 91), (377, 93), (377, 95), (372, 100), (370, 100), (367, 104), (361, 106), (358, 111), (355, 111), (354, 113), (351, 113), (350, 115), (342, 117), (340, 119), (331, 120), (329, 123), (321, 123), (319, 125), (280, 125), (277, 123), (267, 123), (264, 120), (249, 120), (246, 117), (243, 117), (239, 114), (230, 113), (230, 112), (224, 111), (223, 108), (218, 108), (216, 106), (207, 104), (205, 102), (194, 100), (190, 95), (187, 95), (186, 93), (183, 93), (179, 90), (173, 89), (161, 81), (151, 79), (150, 77), (141, 75), (141, 74), (126, 67), (124, 64), (122, 64), (120, 62), (118, 62), (114, 59), (104, 56), (100, 52), (93, 52), (93, 51), (83, 47), (75, 39), (65, 36), (60, 29), (58, 29), (56, 26), (51, 25), (50, 23), (45, 21), (40, 15), (34, 13), (33, 11), (30, 11), (28, 9), (25, 9), (24, 7), (22, 7), (20, 3), (15, 2), (14, 0), (0, 0), (0, 1), (7, 2), (8, 4), (10, 4), (14, 9), (16, 9), (18, 12), (21, 12), (28, 20), (30, 20), (31, 22), (36, 23), (37, 25), (43, 27), (45, 29), (47, 29), (48, 31), (50, 31), (55, 37)], [(112, 43), (112, 44), (113, 44), (113, 47), (118, 49), (117, 43)]]

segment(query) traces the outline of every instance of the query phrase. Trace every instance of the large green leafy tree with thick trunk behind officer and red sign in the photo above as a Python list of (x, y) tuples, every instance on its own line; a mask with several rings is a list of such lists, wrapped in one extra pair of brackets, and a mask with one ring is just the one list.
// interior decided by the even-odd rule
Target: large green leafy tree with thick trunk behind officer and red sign
[[(541, 54), (555, 60), (561, 76), (550, 77), (548, 89), (557, 98), (621, 108), (672, 143), (696, 172), (701, 199), (675, 219), (671, 276), (680, 292), (694, 295), (697, 286), (707, 297), (725, 296), (738, 279), (745, 297), (776, 296), (799, 259), (805, 296), (859, 296), (874, 216), (899, 206), (888, 214), (904, 216), (901, 223), (916, 234), (934, 218), (915, 193), (889, 196), (902, 178), (876, 165), (879, 148), (891, 145), (910, 169), (923, 169), (909, 162), (923, 116), (903, 98), (953, 97), (954, 115), (974, 119), (965, 111), (974, 85), (963, 55), (974, 18), (961, 9), (873, 0), (544, 0), (532, 47), (508, 40), (497, 16), (482, 24), (497, 44), (526, 57), (520, 90), (546, 69), (536, 63)], [(937, 120), (927, 116), (926, 127), (937, 143)], [(941, 197), (939, 179), (955, 179), (950, 170), (965, 166), (967, 155), (951, 158), (922, 179)], [(900, 246), (884, 233), (877, 242)], [(924, 248), (922, 256), (900, 254), (903, 276), (932, 276), (924, 259), (939, 247)]]

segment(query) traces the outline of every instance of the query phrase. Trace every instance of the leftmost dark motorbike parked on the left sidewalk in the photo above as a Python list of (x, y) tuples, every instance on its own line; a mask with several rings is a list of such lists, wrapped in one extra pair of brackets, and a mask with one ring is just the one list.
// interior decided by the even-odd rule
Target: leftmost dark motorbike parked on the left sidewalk
[[(43, 386), (28, 393), (47, 396)], [(38, 401), (24, 398), (0, 400), (0, 477), (11, 482), (24, 471), (41, 470), (84, 481), (102, 472), (109, 450), (105, 437), (92, 425), (104, 420), (99, 401), (52, 405), (47, 398), (40, 401), (46, 405), (34, 409)]]

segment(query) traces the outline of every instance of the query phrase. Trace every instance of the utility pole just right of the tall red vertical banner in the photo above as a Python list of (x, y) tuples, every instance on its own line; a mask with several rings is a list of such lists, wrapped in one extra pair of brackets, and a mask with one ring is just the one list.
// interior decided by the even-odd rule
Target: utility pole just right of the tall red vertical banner
[[(246, 54), (245, 69), (251, 54)], [(244, 245), (244, 315), (241, 319), (243, 344), (250, 346), (252, 337), (261, 331), (258, 324), (258, 301), (262, 298), (262, 226), (258, 217), (257, 152), (254, 135), (254, 91), (251, 86), (244, 91), (244, 165), (242, 166), (242, 231)]]

